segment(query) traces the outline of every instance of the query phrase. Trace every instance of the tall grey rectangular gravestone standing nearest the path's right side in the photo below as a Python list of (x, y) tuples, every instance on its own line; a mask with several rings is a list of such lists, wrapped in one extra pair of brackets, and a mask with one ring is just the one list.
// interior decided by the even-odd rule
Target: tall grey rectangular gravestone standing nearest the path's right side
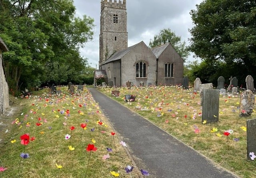
[(220, 90), (218, 89), (204, 89), (202, 97), (202, 123), (219, 121), (219, 100)]

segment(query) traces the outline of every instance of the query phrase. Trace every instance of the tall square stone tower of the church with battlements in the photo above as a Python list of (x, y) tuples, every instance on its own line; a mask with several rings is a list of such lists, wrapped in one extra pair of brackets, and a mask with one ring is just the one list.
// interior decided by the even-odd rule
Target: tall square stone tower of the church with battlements
[(114, 52), (128, 46), (126, 0), (100, 0), (100, 60), (102, 63)]

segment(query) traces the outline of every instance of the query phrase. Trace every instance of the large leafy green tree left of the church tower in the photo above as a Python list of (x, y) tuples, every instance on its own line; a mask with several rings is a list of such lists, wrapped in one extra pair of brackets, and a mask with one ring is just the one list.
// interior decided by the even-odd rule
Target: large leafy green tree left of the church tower
[(75, 10), (73, 0), (0, 0), (0, 36), (10, 50), (4, 62), (12, 87), (50, 81), (58, 70), (68, 80), (84, 70), (88, 63), (79, 48), (92, 40), (94, 20), (75, 17)]

